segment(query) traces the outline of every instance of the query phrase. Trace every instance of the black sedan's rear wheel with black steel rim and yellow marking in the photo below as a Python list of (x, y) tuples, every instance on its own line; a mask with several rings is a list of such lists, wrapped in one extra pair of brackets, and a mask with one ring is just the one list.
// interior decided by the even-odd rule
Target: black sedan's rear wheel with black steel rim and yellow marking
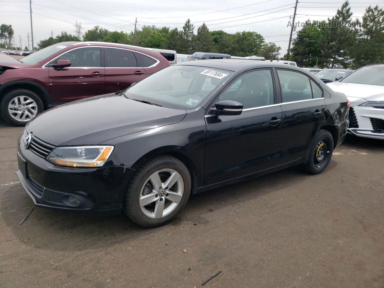
[(308, 161), (303, 168), (310, 174), (319, 174), (331, 161), (333, 153), (333, 137), (327, 130), (319, 130), (313, 139)]

